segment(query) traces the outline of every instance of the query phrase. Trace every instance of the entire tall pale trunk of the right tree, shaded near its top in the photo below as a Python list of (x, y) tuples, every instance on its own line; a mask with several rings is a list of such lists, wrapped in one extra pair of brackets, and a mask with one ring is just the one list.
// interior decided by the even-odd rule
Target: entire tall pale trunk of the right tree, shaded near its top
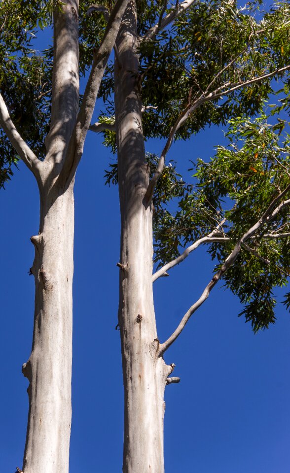
[(152, 291), (152, 207), (141, 118), (136, 3), (117, 37), (115, 114), (121, 210), (120, 299), (125, 389), (124, 473), (163, 473), (164, 388), (172, 367), (158, 355)]

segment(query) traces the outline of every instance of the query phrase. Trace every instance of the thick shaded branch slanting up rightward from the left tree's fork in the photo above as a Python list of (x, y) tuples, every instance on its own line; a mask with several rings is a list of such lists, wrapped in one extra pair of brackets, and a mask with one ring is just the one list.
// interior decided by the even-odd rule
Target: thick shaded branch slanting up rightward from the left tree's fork
[(85, 88), (76, 125), (68, 146), (68, 153), (59, 179), (63, 185), (70, 182), (83, 153), (85, 137), (90, 127), (101, 80), (115, 44), (128, 0), (117, 0), (109, 16), (107, 28), (99, 49), (94, 54), (92, 69)]

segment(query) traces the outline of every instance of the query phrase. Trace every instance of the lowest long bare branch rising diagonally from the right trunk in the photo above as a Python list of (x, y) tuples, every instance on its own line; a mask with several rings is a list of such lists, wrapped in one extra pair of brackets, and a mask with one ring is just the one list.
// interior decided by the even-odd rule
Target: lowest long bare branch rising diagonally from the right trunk
[(236, 243), (233, 251), (225, 260), (224, 264), (221, 268), (216, 272), (213, 276), (211, 281), (208, 283), (206, 288), (204, 289), (200, 298), (187, 310), (185, 315), (182, 317), (181, 322), (177, 329), (173, 332), (173, 334), (162, 344), (159, 345), (159, 354), (164, 353), (170, 345), (179, 337), (182, 330), (184, 329), (186, 323), (190, 319), (191, 315), (207, 300), (210, 295), (211, 290), (217, 284), (217, 281), (221, 278), (221, 276), (234, 264), (236, 261), (242, 245), (251, 238), (261, 227), (263, 227), (266, 223), (270, 222), (276, 215), (281, 211), (282, 208), (288, 206), (290, 204), (290, 199), (281, 202), (277, 207), (276, 204), (281, 201), (281, 199), (290, 191), (290, 184), (284, 189), (284, 191), (280, 192), (278, 196), (276, 196), (268, 208), (265, 210), (263, 215), (259, 218), (259, 220), (246, 232)]

